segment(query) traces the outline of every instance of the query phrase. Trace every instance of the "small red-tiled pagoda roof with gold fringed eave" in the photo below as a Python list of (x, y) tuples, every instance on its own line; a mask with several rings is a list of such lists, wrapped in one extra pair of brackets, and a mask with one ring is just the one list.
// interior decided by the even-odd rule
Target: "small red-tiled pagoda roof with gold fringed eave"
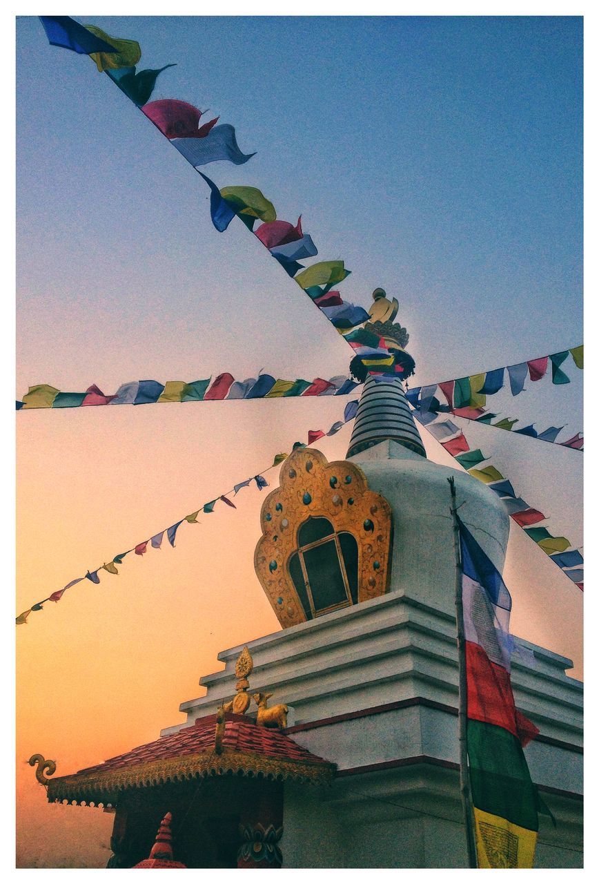
[(126, 789), (237, 774), (269, 780), (327, 782), (336, 765), (307, 751), (280, 730), (259, 727), (244, 715), (224, 713), (216, 741), (216, 715), (145, 743), (100, 765), (48, 781), (49, 802), (116, 805)]

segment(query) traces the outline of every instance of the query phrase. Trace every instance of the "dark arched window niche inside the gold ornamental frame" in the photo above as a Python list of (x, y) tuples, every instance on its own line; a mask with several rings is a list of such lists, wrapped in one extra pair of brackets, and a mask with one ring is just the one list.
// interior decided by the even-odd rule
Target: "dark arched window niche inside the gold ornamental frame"
[(307, 620), (358, 604), (358, 544), (328, 519), (311, 517), (301, 525), (289, 573)]

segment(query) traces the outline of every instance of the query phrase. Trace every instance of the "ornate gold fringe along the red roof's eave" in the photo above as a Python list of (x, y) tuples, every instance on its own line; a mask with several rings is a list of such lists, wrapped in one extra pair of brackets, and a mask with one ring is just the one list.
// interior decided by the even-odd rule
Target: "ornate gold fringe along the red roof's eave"
[(111, 771), (73, 773), (57, 777), (48, 784), (50, 803), (118, 804), (125, 789), (151, 789), (168, 782), (185, 782), (194, 777), (226, 776), (236, 773), (247, 777), (262, 775), (269, 780), (330, 782), (336, 766), (330, 762), (292, 761), (267, 758), (249, 752), (224, 749), (149, 761), (143, 765)]

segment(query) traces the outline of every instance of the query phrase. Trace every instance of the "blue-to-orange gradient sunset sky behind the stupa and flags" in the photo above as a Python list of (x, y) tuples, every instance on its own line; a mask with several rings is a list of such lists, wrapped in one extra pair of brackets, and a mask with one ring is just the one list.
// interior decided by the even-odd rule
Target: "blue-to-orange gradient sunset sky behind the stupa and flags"
[[(397, 297), (413, 385), (582, 342), (581, 19), (79, 20), (140, 42), (140, 67), (177, 63), (152, 98), (236, 127), (256, 156), (206, 173), (301, 214), (319, 258), (352, 271), (345, 300)], [(93, 61), (49, 46), (34, 17), (17, 19), (17, 40), (17, 398), (42, 383), (344, 374), (332, 326), (237, 219), (216, 232), (201, 178)], [(570, 385), (545, 377), (489, 407), (574, 435), (583, 373), (564, 368)], [(346, 402), (20, 412), (17, 613), (328, 430)], [(582, 454), (463, 423), (580, 546)], [(350, 433), (317, 446), (343, 458)], [(218, 652), (278, 628), (253, 568), (265, 493), (243, 489), (237, 510), (184, 523), (174, 549), (127, 557), (17, 629), (19, 865), (110, 853), (112, 818), (46, 804), (30, 755), (61, 775), (155, 739)], [(512, 632), (581, 677), (581, 593), (516, 525), (505, 579)]]

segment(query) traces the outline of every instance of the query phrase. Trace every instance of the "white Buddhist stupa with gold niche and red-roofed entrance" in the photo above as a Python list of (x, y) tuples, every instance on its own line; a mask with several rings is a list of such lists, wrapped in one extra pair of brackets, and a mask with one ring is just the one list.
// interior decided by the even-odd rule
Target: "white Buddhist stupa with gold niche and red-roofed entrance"
[[(377, 290), (372, 326), (409, 366), (396, 313)], [(154, 743), (72, 776), (46, 779), (41, 765), (49, 801), (116, 810), (110, 865), (148, 857), (167, 811), (189, 867), (467, 865), (450, 476), (460, 518), (501, 571), (501, 499), (427, 459), (401, 380), (366, 378), (345, 461), (308, 447), (284, 461), (254, 558), (282, 629), (219, 654), (206, 695)], [(541, 820), (544, 868), (582, 865), (571, 666), (515, 639), (516, 703), (540, 728), (527, 763), (555, 820)]]

